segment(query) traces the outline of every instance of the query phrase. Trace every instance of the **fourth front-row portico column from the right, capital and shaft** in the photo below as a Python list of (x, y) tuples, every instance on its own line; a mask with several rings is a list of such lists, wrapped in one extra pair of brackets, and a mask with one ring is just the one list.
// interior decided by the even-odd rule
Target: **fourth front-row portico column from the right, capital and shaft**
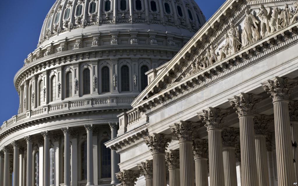
[(193, 126), (192, 122), (180, 121), (170, 126), (171, 131), (179, 140), (180, 154), (180, 185), (194, 185), (193, 178), (193, 136), (197, 132), (198, 126)]

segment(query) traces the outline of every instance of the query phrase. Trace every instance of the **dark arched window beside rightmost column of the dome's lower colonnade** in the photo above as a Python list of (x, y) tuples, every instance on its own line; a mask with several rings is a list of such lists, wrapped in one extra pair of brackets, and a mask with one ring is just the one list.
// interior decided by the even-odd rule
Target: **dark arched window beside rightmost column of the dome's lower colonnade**
[(104, 144), (107, 141), (104, 139), (101, 142), (101, 178), (111, 178), (111, 149)]

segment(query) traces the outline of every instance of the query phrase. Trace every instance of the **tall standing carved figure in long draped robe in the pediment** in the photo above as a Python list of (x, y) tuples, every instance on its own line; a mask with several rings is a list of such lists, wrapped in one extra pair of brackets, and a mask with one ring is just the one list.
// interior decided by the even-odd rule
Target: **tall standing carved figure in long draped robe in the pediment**
[[(259, 21), (257, 21), (257, 19), (254, 17), (254, 15), (249, 13), (249, 9), (246, 9), (245, 13), (246, 13), (246, 17), (244, 18), (244, 27), (243, 27), (243, 31), (241, 34), (243, 47), (249, 46), (250, 44), (252, 44), (254, 42), (252, 33), (253, 33), (253, 31), (257, 32), (257, 30), (258, 30), (257, 24), (259, 23)], [(255, 38), (255, 40), (256, 39), (257, 38)]]

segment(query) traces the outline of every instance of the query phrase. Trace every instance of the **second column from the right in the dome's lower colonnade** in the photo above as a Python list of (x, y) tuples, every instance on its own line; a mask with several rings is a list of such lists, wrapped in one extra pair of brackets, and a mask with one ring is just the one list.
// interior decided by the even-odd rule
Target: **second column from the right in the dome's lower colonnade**
[[(93, 125), (84, 125), (87, 131), (87, 185), (94, 185), (93, 180)], [(86, 185), (86, 186), (87, 186)]]

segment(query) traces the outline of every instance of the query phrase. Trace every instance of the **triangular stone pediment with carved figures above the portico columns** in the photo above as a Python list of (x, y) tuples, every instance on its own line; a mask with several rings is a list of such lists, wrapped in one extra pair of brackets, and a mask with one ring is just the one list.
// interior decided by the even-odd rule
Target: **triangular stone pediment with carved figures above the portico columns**
[[(167, 91), (166, 94), (151, 100), (152, 106), (171, 97), (175, 92), (182, 91), (188, 85), (204, 81), (233, 67), (239, 61), (266, 48), (271, 41), (275, 41), (273, 39), (257, 46), (256, 43), (297, 23), (297, 0), (262, 2), (263, 4), (250, 0), (226, 1), (167, 63), (145, 91), (134, 100), (132, 106), (140, 105), (151, 97)], [(279, 40), (279, 37), (283, 36), (277, 35), (274, 38)]]

